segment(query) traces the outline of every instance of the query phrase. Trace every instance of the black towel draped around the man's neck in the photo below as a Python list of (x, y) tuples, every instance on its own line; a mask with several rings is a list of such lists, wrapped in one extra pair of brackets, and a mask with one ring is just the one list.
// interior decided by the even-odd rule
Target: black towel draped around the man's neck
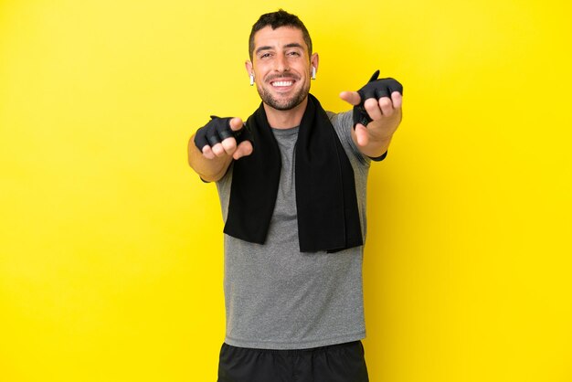
[[(264, 244), (281, 174), (281, 154), (264, 105), (247, 120), (254, 150), (234, 163), (224, 232)], [(320, 102), (308, 95), (295, 149), (298, 239), (302, 252), (363, 244), (354, 170)]]

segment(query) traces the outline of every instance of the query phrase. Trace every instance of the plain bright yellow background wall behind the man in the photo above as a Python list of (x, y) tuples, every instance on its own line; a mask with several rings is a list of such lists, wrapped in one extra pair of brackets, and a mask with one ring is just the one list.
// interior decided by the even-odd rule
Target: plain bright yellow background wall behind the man
[(222, 220), (186, 164), (278, 6), (328, 110), (375, 69), (404, 120), (371, 171), (374, 382), (572, 381), (565, 0), (1, 1), (0, 381), (214, 381)]

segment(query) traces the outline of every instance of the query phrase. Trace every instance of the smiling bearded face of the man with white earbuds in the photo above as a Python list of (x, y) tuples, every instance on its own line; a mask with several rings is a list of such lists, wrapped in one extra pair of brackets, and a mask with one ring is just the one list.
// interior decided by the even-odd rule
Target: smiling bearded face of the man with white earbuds
[(254, 35), (249, 75), (254, 74), (260, 98), (270, 107), (286, 111), (308, 96), (312, 66), (318, 55), (308, 56), (302, 30), (294, 27), (264, 27)]

